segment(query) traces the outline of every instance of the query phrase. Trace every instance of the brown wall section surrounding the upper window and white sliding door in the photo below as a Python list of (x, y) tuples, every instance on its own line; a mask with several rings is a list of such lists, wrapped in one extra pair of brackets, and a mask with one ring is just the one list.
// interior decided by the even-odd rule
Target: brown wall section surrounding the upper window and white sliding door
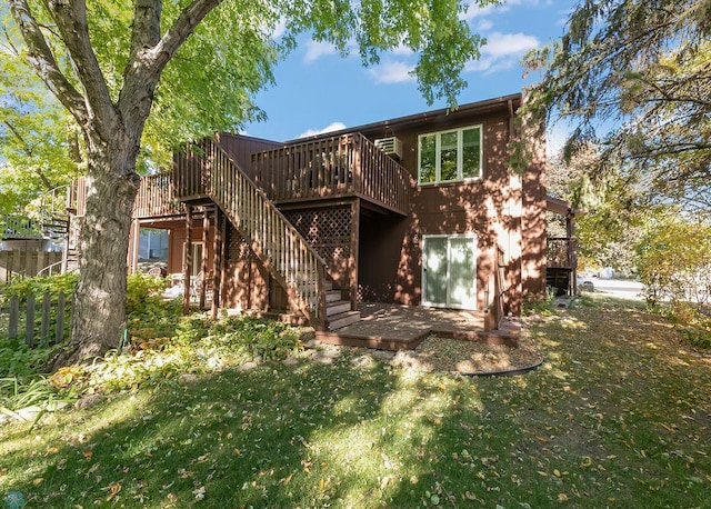
[[(418, 134), (481, 124), (483, 131), (482, 178), (467, 182), (418, 186)], [(452, 114), (425, 127), (369, 133), (371, 139), (395, 136), (403, 144), (402, 166), (413, 180), (410, 216), (404, 219), (365, 218), (360, 228), (360, 297), (363, 300), (420, 305), (422, 299), (422, 237), (430, 234), (477, 236), (477, 308), (493, 298), (494, 253), (499, 246), (505, 263), (505, 311), (520, 309), (522, 277), (522, 191), (529, 182), (505, 166), (510, 138), (508, 111), (487, 116)], [(535, 177), (531, 169), (527, 178)], [(542, 186), (531, 196), (527, 221), (537, 220)], [(528, 223), (527, 223), (528, 226)], [(543, 233), (544, 236), (544, 233)], [(528, 237), (527, 237), (528, 239)], [(534, 265), (538, 255), (527, 258)], [(527, 269), (528, 269), (527, 265)], [(544, 281), (544, 278), (543, 278)], [(531, 279), (531, 283), (533, 280)], [(533, 286), (531, 287), (533, 288)]]

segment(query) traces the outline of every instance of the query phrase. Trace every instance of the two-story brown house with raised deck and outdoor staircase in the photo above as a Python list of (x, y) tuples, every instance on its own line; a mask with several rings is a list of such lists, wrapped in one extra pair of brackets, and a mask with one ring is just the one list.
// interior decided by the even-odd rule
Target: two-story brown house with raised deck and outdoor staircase
[(129, 267), (140, 229), (162, 229), (168, 272), (213, 312), (286, 311), (334, 330), (375, 301), (478, 310), (495, 328), (547, 283), (542, 130), (524, 171), (507, 163), (521, 102), (288, 142), (219, 133), (143, 178)]

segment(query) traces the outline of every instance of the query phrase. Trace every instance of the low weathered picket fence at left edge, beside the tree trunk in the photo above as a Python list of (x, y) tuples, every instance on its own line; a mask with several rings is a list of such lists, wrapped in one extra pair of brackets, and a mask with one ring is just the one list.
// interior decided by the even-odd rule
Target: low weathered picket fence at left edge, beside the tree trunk
[(60, 345), (64, 341), (64, 326), (69, 323), (71, 296), (60, 292), (57, 300), (49, 293), (41, 297), (28, 296), (20, 302), (17, 296), (11, 297), (0, 307), (0, 336), (7, 331), (7, 338), (16, 340), (24, 335), (28, 347), (39, 345)]

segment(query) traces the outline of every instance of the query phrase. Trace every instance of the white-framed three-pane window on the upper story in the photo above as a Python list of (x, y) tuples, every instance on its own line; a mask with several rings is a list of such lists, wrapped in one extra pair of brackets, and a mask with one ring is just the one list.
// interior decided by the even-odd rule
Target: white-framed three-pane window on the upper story
[(420, 183), (481, 177), (481, 126), (420, 134), (418, 140)]

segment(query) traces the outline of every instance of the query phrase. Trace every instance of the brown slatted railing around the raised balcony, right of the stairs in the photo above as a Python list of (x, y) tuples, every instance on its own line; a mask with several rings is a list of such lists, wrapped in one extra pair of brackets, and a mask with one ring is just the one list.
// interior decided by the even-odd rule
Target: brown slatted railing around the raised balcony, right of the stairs
[(252, 172), (276, 202), (358, 194), (408, 213), (410, 174), (360, 133), (254, 153)]

